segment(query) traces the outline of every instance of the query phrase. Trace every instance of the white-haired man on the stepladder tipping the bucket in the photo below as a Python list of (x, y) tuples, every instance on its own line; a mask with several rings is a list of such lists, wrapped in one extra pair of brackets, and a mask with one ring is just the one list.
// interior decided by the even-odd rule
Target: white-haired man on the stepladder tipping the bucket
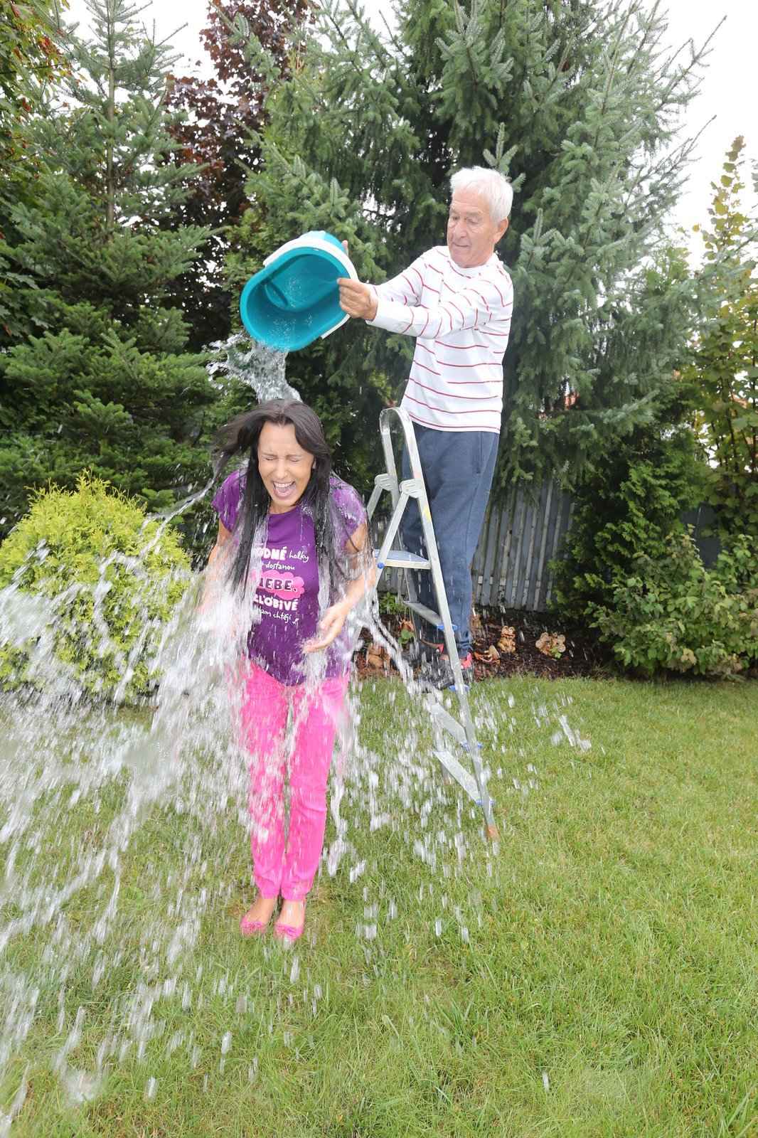
[[(471, 559), (485, 516), (503, 410), (503, 354), (513, 286), (495, 255), (508, 229), (513, 192), (506, 179), (481, 166), (451, 178), (447, 247), (425, 253), (386, 284), (339, 280), (340, 306), (372, 328), (415, 337), (402, 406), (413, 420), (439, 550), (443, 579), (463, 677), (473, 677), (469, 616)], [(403, 477), (410, 478), (403, 455)], [(402, 526), (405, 547), (425, 553), (415, 504)], [(419, 600), (436, 610), (429, 574), (419, 575)], [(421, 627), (409, 662), (423, 663), (436, 687), (453, 683), (439, 632)]]

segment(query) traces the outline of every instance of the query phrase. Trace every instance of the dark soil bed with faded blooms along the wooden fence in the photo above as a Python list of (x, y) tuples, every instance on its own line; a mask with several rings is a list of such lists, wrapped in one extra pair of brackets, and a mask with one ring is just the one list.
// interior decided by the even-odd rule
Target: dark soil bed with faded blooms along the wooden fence
[[(404, 630), (406, 636), (410, 634), (410, 625), (399, 616), (385, 617), (384, 624), (395, 640), (399, 640)], [(512, 635), (506, 633), (503, 636), (504, 629), (513, 629)], [(477, 681), (522, 675), (565, 679), (571, 676), (607, 676), (612, 671), (610, 654), (603, 645), (586, 635), (566, 632), (545, 613), (477, 611), (471, 632)], [(547, 651), (537, 648), (537, 641), (545, 633), (563, 637), (558, 642), (553, 640), (554, 654), (549, 654), (550, 644), (544, 644)], [(362, 641), (363, 648), (355, 655), (359, 675), (396, 675), (387, 654), (372, 645), (371, 634), (365, 629)], [(510, 645), (513, 651), (508, 651)]]

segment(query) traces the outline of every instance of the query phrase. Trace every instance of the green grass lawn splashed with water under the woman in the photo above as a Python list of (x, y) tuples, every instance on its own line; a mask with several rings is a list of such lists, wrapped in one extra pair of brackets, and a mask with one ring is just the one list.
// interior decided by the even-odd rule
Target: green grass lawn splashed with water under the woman
[[(11, 939), (0, 966), (40, 978), (11, 1136), (758, 1135), (758, 684), (492, 681), (472, 707), (496, 849), (422, 710), (364, 682), (343, 856), (294, 949), (239, 935), (239, 802), (154, 809), (97, 978), (94, 942), (61, 983), (53, 930)], [(97, 848), (123, 794), (72, 813), (47, 872)], [(166, 930), (193, 912), (182, 955)], [(98, 1065), (76, 1100), (71, 1072)]]

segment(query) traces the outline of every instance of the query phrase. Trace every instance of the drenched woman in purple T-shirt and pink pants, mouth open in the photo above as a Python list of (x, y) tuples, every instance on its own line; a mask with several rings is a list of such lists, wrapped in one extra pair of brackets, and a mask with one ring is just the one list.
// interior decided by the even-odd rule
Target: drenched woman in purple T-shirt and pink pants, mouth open
[(208, 563), (223, 559), (231, 585), (255, 591), (239, 678), (258, 898), (240, 930), (245, 937), (265, 932), (281, 897), (274, 935), (295, 941), (323, 848), (329, 762), (352, 654), (345, 621), (373, 584), (373, 556), (363, 503), (331, 473), (314, 411), (271, 399), (222, 428), (219, 438), (225, 443), (216, 473), (234, 455), (248, 461), (213, 501), (219, 537)]

